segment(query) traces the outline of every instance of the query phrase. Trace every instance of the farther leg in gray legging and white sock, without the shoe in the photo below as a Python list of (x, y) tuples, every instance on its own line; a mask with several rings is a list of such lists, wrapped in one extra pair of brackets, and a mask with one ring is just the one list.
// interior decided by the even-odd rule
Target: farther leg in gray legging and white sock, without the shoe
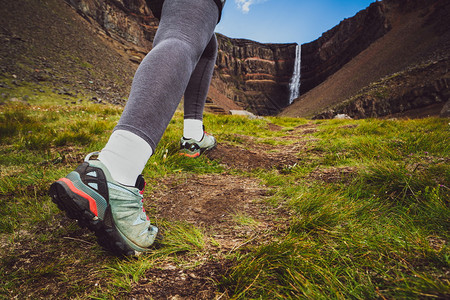
[(200, 141), (203, 138), (203, 109), (217, 58), (217, 39), (211, 37), (192, 73), (184, 93), (185, 138)]

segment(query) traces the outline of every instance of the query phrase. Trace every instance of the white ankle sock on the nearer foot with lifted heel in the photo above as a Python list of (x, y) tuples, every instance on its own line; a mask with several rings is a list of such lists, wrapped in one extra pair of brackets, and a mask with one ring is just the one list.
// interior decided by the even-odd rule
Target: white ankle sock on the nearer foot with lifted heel
[(98, 159), (115, 181), (134, 186), (152, 154), (153, 149), (144, 139), (130, 131), (116, 130)]

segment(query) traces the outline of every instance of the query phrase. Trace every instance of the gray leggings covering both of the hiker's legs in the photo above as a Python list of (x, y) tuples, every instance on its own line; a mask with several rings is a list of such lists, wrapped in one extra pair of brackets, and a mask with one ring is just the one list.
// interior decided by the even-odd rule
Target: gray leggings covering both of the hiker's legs
[(166, 0), (161, 21), (133, 79), (114, 130), (127, 130), (155, 150), (184, 94), (184, 118), (202, 120), (217, 57), (213, 0)]

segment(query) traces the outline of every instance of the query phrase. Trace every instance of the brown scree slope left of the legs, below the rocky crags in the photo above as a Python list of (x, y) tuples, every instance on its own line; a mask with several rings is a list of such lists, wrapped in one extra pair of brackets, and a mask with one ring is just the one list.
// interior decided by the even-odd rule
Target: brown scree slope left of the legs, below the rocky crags
[(0, 0), (0, 15), (0, 90), (37, 85), (71, 101), (83, 94), (125, 102), (135, 72), (131, 54), (66, 2)]

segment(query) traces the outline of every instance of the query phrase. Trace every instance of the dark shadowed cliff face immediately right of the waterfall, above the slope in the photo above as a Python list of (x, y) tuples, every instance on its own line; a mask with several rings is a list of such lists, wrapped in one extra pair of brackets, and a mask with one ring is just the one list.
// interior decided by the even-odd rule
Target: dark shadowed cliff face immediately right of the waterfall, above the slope
[(301, 93), (319, 85), (390, 30), (383, 2), (374, 2), (319, 39), (302, 45)]

